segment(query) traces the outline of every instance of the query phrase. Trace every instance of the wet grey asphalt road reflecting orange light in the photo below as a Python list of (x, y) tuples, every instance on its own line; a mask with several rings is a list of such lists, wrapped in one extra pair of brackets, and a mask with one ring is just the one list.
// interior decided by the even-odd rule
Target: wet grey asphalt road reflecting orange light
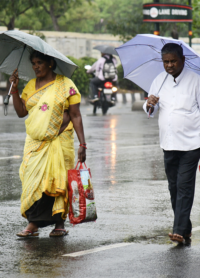
[[(199, 277), (200, 173), (192, 241), (177, 245), (167, 236), (173, 212), (157, 117), (147, 120), (130, 103), (117, 104), (106, 116), (81, 106), (98, 219), (74, 227), (66, 221), (70, 232), (64, 238), (50, 238), (49, 226), (39, 237), (23, 239), (15, 234), (27, 224), (20, 215), (18, 175), (26, 133), (24, 119), (8, 108), (5, 117), (0, 106), (0, 277)], [(77, 152), (76, 137), (75, 146)]]

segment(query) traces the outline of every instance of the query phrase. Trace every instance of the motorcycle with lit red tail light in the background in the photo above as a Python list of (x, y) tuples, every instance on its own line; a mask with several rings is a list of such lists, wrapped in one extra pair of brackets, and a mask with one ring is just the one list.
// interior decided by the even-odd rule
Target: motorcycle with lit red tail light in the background
[[(90, 70), (91, 66), (86, 65), (85, 69)], [(113, 82), (105, 81), (103, 86), (98, 88), (98, 100), (90, 101), (94, 105), (93, 113), (96, 114), (97, 108), (101, 108), (102, 114), (106, 115), (108, 108), (115, 106), (117, 90), (118, 88), (114, 86)]]

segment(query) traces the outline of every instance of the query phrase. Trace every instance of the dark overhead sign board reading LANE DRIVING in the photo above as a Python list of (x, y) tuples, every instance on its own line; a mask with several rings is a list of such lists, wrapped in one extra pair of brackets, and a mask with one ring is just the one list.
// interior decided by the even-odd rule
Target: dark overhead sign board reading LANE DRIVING
[(182, 4), (144, 4), (144, 22), (192, 22), (192, 7)]

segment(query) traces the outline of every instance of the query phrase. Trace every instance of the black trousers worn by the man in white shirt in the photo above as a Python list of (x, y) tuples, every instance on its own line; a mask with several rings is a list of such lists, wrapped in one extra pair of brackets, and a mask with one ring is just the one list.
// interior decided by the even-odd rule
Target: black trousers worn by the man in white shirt
[(190, 151), (163, 150), (163, 152), (165, 172), (174, 211), (173, 234), (180, 234), (185, 237), (192, 230), (190, 212), (194, 200), (200, 148)]

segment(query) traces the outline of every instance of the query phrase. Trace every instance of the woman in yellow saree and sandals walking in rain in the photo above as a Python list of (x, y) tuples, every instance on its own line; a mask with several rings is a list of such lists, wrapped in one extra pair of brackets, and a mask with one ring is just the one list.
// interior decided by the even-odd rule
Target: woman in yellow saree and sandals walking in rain
[[(36, 78), (18, 93), (18, 72), (10, 77), (18, 117), (24, 117), (26, 141), (19, 175), (22, 181), (21, 214), (27, 227), (19, 237), (38, 236), (38, 228), (55, 224), (50, 236), (68, 233), (67, 170), (74, 168), (74, 130), (80, 142), (78, 161), (86, 160), (86, 143), (79, 110), (80, 93), (74, 83), (54, 73), (53, 57), (34, 51), (30, 56)], [(15, 73), (16, 72), (16, 73)]]

